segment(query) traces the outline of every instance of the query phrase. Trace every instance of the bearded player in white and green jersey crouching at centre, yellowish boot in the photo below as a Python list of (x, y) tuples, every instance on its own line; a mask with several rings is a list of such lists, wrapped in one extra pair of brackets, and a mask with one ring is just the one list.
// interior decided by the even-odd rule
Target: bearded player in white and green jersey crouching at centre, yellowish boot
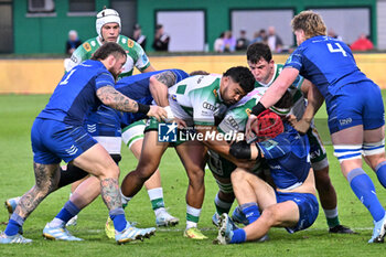
[[(253, 89), (254, 83), (255, 79), (246, 67), (229, 68), (223, 76), (192, 76), (169, 88), (170, 108), (176, 119), (182, 120), (189, 127), (194, 126), (195, 133), (193, 135), (205, 137), (205, 135), (212, 135), (212, 131), (215, 130), (215, 108), (219, 104), (233, 105), (237, 103)], [(170, 126), (176, 127), (175, 124)], [(175, 127), (169, 128), (173, 130)], [(153, 119), (149, 121), (144, 135), (143, 151), (137, 169), (122, 181), (121, 192), (127, 197), (132, 197), (138, 193), (143, 182), (156, 171), (163, 152), (171, 144), (168, 141), (159, 141), (158, 128), (158, 122)], [(179, 139), (181, 138), (179, 137)], [(215, 148), (224, 156), (228, 156), (227, 142), (206, 139), (203, 139), (203, 143), (196, 140), (174, 141), (172, 143), (189, 176), (184, 236), (193, 239), (207, 238), (197, 228), (205, 192), (206, 147)], [(235, 158), (228, 158), (237, 163)], [(239, 164), (243, 165), (244, 163)]]

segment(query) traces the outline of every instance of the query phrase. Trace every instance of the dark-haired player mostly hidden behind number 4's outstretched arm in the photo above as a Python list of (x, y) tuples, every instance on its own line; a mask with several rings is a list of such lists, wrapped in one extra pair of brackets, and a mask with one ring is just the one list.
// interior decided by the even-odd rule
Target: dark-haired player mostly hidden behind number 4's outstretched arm
[[(283, 67), (283, 65), (275, 63), (269, 46), (262, 43), (255, 43), (248, 46), (247, 61), (248, 66), (256, 78), (257, 87), (269, 87), (279, 76)], [(305, 110), (307, 100), (304, 96), (309, 93), (313, 93), (312, 90), (309, 90), (309, 88), (310, 82), (300, 75), (288, 88), (293, 97), (291, 114), (294, 115), (298, 120), (301, 120)], [(320, 104), (322, 103), (320, 101)], [(353, 234), (352, 229), (340, 224), (336, 192), (329, 175), (329, 160), (317, 127), (314, 126), (314, 121), (311, 120), (310, 126), (308, 127), (309, 129), (305, 133), (311, 144), (311, 165), (314, 171), (317, 190), (326, 217), (329, 232)], [(294, 126), (294, 128), (297, 129), (297, 126)]]

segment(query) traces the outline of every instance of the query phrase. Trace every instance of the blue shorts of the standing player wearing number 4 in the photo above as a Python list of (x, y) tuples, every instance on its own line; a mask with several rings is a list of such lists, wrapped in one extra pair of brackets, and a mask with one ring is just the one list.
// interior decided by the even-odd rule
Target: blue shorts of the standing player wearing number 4
[(364, 130), (385, 125), (384, 101), (373, 82), (349, 84), (326, 100), (330, 133), (363, 125)]

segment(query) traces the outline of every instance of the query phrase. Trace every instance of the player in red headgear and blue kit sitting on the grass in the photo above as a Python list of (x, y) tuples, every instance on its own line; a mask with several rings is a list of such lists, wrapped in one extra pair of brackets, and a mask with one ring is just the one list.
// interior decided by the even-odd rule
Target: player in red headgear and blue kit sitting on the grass
[(271, 110), (265, 110), (257, 119), (256, 144), (235, 142), (230, 154), (247, 160), (265, 158), (276, 189), (245, 169), (237, 168), (232, 172), (233, 189), (249, 225), (233, 229), (228, 215), (224, 213), (215, 239), (218, 244), (257, 240), (274, 226), (294, 233), (311, 226), (318, 217), (319, 203), (308, 137), (299, 135)]

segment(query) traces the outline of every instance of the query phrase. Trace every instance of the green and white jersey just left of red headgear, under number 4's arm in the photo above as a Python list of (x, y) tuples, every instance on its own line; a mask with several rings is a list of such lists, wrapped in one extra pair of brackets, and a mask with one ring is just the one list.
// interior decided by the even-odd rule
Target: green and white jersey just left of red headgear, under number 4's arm
[(251, 108), (261, 99), (268, 87), (256, 87), (242, 100), (229, 107), (217, 130), (223, 133), (244, 132)]

